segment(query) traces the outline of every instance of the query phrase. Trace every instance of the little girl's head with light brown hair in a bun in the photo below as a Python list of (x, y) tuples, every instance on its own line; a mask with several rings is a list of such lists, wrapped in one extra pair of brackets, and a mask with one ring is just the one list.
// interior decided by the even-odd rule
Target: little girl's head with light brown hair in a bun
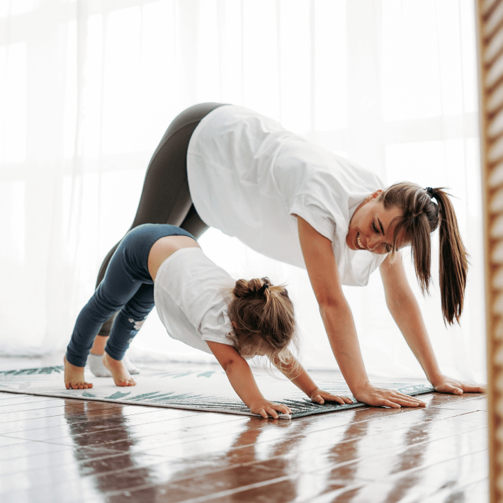
[(234, 346), (241, 355), (266, 355), (287, 363), (288, 344), (296, 344), (293, 303), (283, 286), (269, 278), (239, 279), (228, 306)]

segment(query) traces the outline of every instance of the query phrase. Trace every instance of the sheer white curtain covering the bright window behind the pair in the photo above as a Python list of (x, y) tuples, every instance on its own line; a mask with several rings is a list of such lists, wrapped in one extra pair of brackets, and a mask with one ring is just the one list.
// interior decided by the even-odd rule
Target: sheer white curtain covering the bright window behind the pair
[[(1, 0), (0, 353), (64, 349), (167, 125), (222, 101), (386, 183), (451, 189), (471, 256), (460, 327), (443, 325), (438, 281), (422, 298), (407, 253), (405, 263), (443, 370), (484, 378), (474, 26), (468, 0)], [(235, 277), (288, 283), (303, 362), (335, 368), (305, 271), (217, 230), (200, 244)], [(421, 376), (379, 273), (345, 293), (368, 371)], [(155, 313), (131, 353), (207, 358), (170, 339)]]

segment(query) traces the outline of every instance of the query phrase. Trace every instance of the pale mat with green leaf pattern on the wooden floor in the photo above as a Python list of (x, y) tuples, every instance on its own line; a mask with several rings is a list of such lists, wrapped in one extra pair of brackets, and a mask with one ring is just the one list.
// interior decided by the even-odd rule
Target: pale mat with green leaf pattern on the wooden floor
[[(315, 404), (285, 378), (276, 378), (264, 371), (254, 371), (254, 375), (264, 397), (288, 405), (292, 409), (293, 419), (363, 405), (359, 402), (348, 405)], [(115, 386), (112, 378), (96, 378), (87, 369), (86, 380), (93, 383), (94, 387), (89, 390), (67, 390), (64, 388), (62, 366), (0, 371), (0, 391), (253, 415), (232, 390), (225, 372), (218, 367), (208, 370), (208, 366), (201, 366), (197, 370), (192, 365), (187, 371), (179, 368), (174, 371), (142, 370), (140, 375), (135, 375), (137, 385), (128, 388)], [(320, 388), (335, 395), (352, 397), (346, 383), (340, 378), (316, 378), (315, 381)], [(417, 383), (373, 384), (380, 388), (400, 390), (407, 395), (419, 395), (433, 390), (429, 385)]]

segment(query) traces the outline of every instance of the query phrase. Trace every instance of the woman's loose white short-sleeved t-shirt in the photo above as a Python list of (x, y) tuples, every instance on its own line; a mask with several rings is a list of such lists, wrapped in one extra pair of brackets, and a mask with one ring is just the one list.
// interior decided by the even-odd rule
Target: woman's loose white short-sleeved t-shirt
[(203, 221), (257, 252), (305, 268), (298, 215), (332, 241), (343, 284), (366, 285), (385, 259), (346, 244), (354, 210), (383, 182), (271, 118), (216, 108), (192, 134), (187, 170)]

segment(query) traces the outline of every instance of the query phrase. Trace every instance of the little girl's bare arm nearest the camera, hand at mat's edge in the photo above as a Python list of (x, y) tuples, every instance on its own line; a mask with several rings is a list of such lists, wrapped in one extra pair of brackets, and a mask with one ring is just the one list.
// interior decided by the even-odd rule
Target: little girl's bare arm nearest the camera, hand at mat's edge
[[(278, 412), (291, 414), (286, 405), (269, 402), (266, 400), (256, 385), (252, 369), (247, 361), (236, 351), (234, 346), (220, 342), (206, 341), (211, 352), (222, 366), (234, 391), (252, 414), (260, 414), (267, 418), (268, 415), (278, 419)], [(278, 411), (278, 412), (276, 412)]]

